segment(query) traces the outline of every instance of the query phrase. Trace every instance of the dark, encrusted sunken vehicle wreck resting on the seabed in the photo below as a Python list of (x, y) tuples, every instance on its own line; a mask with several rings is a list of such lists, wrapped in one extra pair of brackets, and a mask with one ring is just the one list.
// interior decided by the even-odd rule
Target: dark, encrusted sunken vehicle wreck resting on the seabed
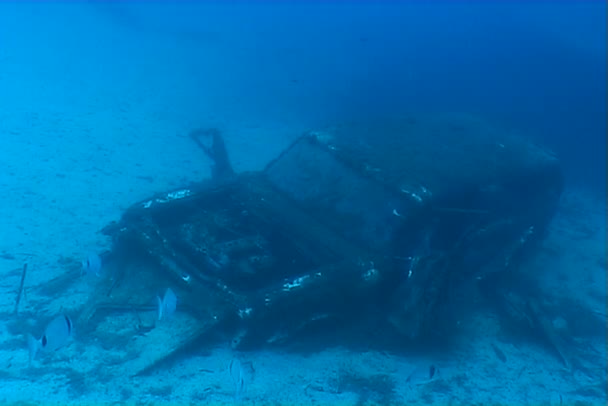
[(219, 131), (193, 132), (215, 162), (213, 179), (136, 203), (104, 229), (120, 272), (100, 283), (81, 319), (171, 287), (199, 327), (141, 373), (237, 333), (239, 346), (256, 347), (380, 317), (392, 333), (425, 337), (445, 324), (459, 286), (517, 269), (562, 187), (545, 150), (489, 128), (453, 128), (335, 126), (241, 174)]

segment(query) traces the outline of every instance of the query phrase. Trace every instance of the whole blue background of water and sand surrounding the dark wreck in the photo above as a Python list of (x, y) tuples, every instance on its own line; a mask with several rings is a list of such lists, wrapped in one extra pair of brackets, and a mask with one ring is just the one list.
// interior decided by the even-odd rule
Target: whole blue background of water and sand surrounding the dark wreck
[[(492, 331), (432, 361), (258, 352), (238, 401), (229, 347), (133, 379), (116, 365), (153, 347), (110, 351), (75, 325), (75, 344), (32, 366), (23, 336), (86, 301), (84, 279), (34, 287), (109, 249), (100, 229), (210, 176), (193, 129), (220, 128), (241, 172), (304, 131), (401, 114), (478, 117), (556, 153), (562, 205), (530, 266), (569, 275), (555, 285), (605, 323), (606, 13), (605, 1), (0, 2), (0, 403), (605, 404), (605, 331), (583, 373), (525, 344), (497, 351)], [(412, 386), (431, 362), (442, 377)]]

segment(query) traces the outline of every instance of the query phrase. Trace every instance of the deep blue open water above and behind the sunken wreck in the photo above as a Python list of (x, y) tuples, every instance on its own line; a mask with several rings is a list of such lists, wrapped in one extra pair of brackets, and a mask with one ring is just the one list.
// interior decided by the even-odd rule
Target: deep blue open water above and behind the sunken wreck
[(481, 115), (551, 147), (572, 183), (605, 191), (605, 2), (236, 4), (103, 8), (185, 47), (221, 44), (198, 58), (213, 60), (214, 80), (248, 114), (288, 111), (312, 125)]

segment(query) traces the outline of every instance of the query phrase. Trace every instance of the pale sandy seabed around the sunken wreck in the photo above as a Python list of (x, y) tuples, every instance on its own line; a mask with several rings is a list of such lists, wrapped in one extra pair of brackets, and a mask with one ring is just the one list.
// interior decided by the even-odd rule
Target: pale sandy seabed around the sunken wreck
[[(160, 325), (118, 350), (106, 348), (103, 338), (79, 337), (76, 326), (69, 347), (29, 368), (23, 337), (9, 330), (19, 282), (14, 271), (24, 262), (27, 285), (44, 283), (65, 272), (60, 258), (108, 248), (98, 231), (128, 205), (208, 176), (209, 162), (185, 137), (195, 127), (223, 129), (239, 171), (262, 167), (303, 129), (293, 118), (257, 120), (243, 113), (233, 95), (222, 97), (221, 85), (229, 80), (210, 80), (213, 62), (191, 60), (192, 54), (169, 39), (109, 26), (86, 6), (0, 4), (0, 253), (14, 257), (0, 259), (0, 403), (234, 403), (228, 372), (234, 357), (255, 368), (242, 398), (255, 404), (357, 404), (366, 396), (383, 402), (373, 390), (355, 393), (344, 372), (388, 375), (398, 403), (601, 403), (605, 342), (593, 343), (598, 364), (591, 375), (565, 371), (533, 343), (502, 340), (495, 319), (481, 311), (463, 321), (463, 329), (481, 325), (485, 334), (441, 358), (343, 349), (234, 354), (226, 347), (131, 378), (157, 346), (187, 329), (189, 320), (178, 314), (171, 328)], [(230, 101), (232, 108), (226, 107)], [(548, 249), (534, 264), (566, 275), (555, 289), (588, 301), (604, 318), (605, 225), (605, 203), (568, 192)], [(21, 309), (40, 306), (46, 309), (40, 317), (47, 317), (62, 306), (77, 307), (86, 299), (86, 282), (73, 290), (53, 300), (27, 296)], [(111, 322), (120, 329), (132, 321)], [(497, 359), (493, 343), (507, 362)], [(406, 382), (414, 369), (430, 364), (439, 368), (439, 379)]]

